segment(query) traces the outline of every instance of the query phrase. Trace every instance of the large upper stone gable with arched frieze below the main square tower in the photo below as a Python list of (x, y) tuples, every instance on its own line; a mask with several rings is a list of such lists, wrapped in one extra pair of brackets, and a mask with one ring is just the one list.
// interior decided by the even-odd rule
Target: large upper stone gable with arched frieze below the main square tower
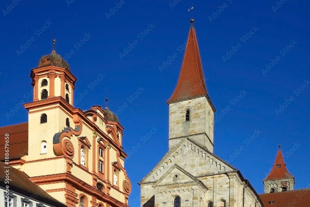
[(186, 137), (175, 149), (169, 151), (140, 183), (156, 182), (174, 164), (179, 165), (194, 177), (237, 170)]

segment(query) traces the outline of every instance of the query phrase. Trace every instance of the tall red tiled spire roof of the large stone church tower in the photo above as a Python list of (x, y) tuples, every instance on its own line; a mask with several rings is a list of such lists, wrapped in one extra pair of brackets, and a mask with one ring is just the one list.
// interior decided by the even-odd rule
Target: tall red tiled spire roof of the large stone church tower
[(191, 28), (189, 30), (179, 81), (168, 102), (207, 94), (193, 18), (190, 22)]

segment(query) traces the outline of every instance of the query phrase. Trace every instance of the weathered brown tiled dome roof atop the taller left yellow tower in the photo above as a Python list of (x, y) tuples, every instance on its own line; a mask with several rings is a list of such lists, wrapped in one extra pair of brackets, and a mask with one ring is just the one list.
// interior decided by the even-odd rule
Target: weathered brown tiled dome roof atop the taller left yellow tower
[(38, 68), (45, 67), (48, 65), (55, 65), (70, 71), (68, 63), (64, 61), (64, 59), (62, 59), (60, 55), (56, 54), (55, 50), (53, 50), (51, 54), (41, 57), (38, 64)]

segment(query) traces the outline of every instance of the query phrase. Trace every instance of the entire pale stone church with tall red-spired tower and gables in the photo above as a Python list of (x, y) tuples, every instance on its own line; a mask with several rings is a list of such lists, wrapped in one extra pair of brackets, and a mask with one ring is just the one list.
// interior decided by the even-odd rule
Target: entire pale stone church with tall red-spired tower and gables
[(194, 20), (169, 105), (169, 150), (140, 182), (141, 207), (262, 207), (240, 171), (213, 154), (214, 113)]

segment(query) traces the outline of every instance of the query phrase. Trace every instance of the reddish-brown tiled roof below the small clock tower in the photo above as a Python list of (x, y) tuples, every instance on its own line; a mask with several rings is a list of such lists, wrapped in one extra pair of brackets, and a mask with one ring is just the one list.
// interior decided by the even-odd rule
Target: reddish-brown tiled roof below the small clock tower
[[(265, 207), (308, 207), (310, 206), (310, 188), (284, 191), (277, 193), (264, 193), (259, 195)], [(274, 201), (274, 204), (270, 204)]]

